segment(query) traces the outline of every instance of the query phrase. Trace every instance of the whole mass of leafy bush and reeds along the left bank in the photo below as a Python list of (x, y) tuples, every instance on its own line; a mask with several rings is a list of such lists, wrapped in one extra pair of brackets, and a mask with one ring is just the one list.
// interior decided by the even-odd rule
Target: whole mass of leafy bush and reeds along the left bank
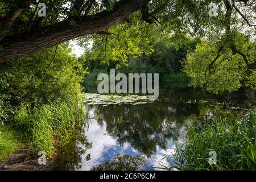
[[(85, 71), (68, 44), (1, 64), (0, 69), (1, 158), (17, 141), (30, 144), (33, 153), (53, 155), (59, 145), (76, 138), (86, 117), (78, 105)], [(3, 123), (9, 126), (8, 135)]]

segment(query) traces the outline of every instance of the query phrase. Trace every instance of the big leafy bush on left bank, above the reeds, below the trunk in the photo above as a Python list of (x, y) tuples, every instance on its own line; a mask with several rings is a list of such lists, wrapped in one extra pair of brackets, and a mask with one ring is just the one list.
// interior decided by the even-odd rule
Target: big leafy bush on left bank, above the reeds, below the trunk
[(49, 48), (0, 65), (0, 72), (8, 73), (5, 81), (9, 85), (0, 91), (10, 96), (11, 105), (61, 102), (81, 92), (82, 64), (70, 54), (67, 44), (60, 44), (56, 55), (55, 50)]

